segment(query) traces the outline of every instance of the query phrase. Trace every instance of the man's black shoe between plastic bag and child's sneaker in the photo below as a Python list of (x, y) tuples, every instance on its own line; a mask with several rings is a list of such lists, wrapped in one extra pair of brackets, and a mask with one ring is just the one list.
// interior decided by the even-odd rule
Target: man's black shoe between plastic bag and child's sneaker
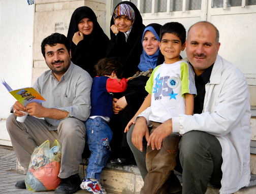
[(55, 190), (55, 193), (75, 193), (80, 190), (81, 180), (78, 174), (72, 175), (68, 178), (61, 179), (61, 183)]

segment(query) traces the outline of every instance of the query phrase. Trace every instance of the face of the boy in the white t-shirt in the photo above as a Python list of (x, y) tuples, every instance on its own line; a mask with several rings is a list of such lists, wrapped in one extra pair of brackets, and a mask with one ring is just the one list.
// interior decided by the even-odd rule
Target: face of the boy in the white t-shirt
[(181, 45), (180, 38), (172, 33), (164, 33), (161, 42), (158, 42), (158, 44), (161, 53), (165, 57), (166, 64), (179, 61), (180, 52), (185, 49), (185, 43)]

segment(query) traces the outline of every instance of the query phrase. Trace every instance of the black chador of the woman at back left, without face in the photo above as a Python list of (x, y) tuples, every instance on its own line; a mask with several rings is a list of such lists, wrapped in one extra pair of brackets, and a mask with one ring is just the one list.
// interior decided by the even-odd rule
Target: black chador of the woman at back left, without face
[[(92, 21), (93, 29), (89, 35), (83, 35), (84, 39), (75, 45), (72, 38), (75, 32), (79, 31), (78, 23), (83, 18), (89, 18)], [(91, 77), (94, 77), (94, 65), (105, 57), (109, 38), (98, 23), (96, 15), (89, 7), (77, 8), (72, 14), (68, 39), (71, 45), (72, 62), (86, 70)]]

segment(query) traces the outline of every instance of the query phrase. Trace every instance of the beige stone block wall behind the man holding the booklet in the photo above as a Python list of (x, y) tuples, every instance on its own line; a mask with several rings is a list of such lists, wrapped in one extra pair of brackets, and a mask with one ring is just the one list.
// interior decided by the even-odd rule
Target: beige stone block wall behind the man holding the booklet
[(105, 0), (38, 0), (36, 2), (33, 83), (45, 70), (48, 70), (40, 47), (43, 39), (54, 32), (67, 36), (71, 15), (81, 6), (90, 7), (101, 27), (105, 29), (105, 2)]

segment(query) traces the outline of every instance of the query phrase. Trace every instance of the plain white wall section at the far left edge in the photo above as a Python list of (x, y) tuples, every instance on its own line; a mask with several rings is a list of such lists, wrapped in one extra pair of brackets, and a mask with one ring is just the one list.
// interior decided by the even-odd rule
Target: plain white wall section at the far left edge
[[(18, 89), (31, 86), (35, 5), (0, 0), (0, 79)], [(15, 98), (0, 84), (0, 145), (11, 145), (6, 119)]]

